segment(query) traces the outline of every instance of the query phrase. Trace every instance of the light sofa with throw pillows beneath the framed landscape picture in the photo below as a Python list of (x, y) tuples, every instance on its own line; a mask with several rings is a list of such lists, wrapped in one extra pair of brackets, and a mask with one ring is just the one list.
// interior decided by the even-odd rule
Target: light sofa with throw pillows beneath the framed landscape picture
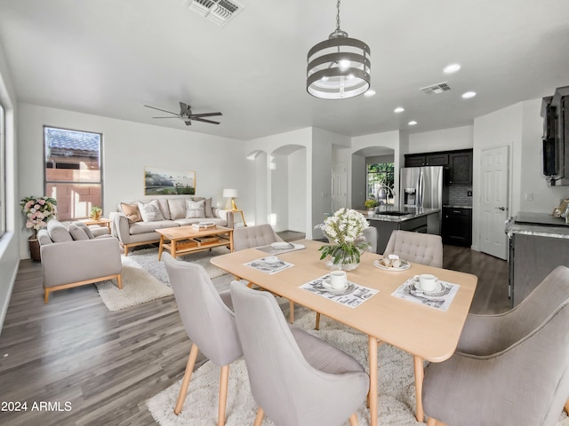
[[(200, 209), (200, 205), (202, 208)], [(212, 221), (233, 227), (231, 210), (212, 207), (212, 199), (194, 196), (172, 196), (154, 200), (121, 202), (109, 215), (111, 233), (116, 236), (128, 256), (131, 247), (160, 241), (156, 229)]]

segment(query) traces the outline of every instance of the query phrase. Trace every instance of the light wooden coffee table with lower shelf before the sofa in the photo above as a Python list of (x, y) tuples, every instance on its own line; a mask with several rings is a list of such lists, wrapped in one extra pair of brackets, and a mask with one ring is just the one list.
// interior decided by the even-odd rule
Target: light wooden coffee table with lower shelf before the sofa
[(233, 251), (233, 228), (215, 226), (198, 230), (188, 225), (156, 229), (156, 233), (160, 234), (158, 260), (162, 259), (164, 248), (170, 250), (170, 255), (174, 258), (220, 246)]

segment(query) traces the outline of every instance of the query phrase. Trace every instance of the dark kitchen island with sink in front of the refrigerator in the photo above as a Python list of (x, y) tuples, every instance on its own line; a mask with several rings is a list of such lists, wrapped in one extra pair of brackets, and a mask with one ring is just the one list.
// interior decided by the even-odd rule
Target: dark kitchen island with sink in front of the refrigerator
[(377, 252), (383, 253), (393, 231), (401, 229), (415, 233), (440, 234), (440, 209), (385, 209), (370, 215), (362, 212), (370, 225), (377, 229)]

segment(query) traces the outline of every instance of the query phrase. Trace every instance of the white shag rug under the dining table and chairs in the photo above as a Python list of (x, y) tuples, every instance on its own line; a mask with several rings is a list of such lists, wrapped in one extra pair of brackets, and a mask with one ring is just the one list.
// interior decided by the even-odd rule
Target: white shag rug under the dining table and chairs
[[(295, 325), (310, 330), (320, 338), (333, 343), (342, 351), (349, 353), (367, 368), (367, 336), (342, 325), (341, 323), (322, 317), (320, 330), (314, 330), (316, 314), (309, 312)], [(382, 344), (378, 355), (379, 367), (379, 419), (381, 425), (421, 425), (414, 418), (415, 387), (413, 375), (413, 356), (399, 351), (389, 344)], [(166, 390), (148, 399), (150, 413), (162, 426), (215, 426), (217, 424), (218, 391), (220, 368), (211, 361), (204, 363), (192, 375), (188, 396), (180, 415), (173, 413), (178, 398), (181, 380)], [(227, 426), (243, 426), (252, 424), (257, 412), (247, 377), (244, 359), (237, 359), (229, 367), (228, 404), (226, 409)], [(369, 410), (362, 400), (357, 410), (357, 418), (361, 426), (369, 425)], [(348, 419), (346, 419), (348, 423)], [(265, 416), (263, 426), (274, 425)]]

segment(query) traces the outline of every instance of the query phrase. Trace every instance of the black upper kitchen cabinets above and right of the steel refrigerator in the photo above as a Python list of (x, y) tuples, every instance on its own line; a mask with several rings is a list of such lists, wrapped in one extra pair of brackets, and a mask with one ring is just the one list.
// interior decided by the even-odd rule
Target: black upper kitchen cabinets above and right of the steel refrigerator
[(405, 154), (405, 167), (444, 166), (445, 185), (472, 185), (472, 150)]

